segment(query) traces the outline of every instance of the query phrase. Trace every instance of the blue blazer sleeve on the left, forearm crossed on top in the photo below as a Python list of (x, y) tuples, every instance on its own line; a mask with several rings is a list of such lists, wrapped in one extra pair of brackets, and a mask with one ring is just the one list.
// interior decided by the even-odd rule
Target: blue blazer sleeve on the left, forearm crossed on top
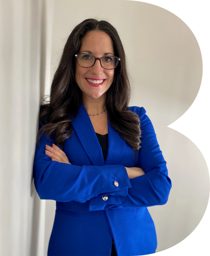
[[(41, 125), (39, 129), (41, 128)], [(43, 133), (40, 145), (36, 145), (33, 177), (40, 199), (51, 199), (59, 202), (86, 202), (88, 199), (103, 193), (127, 196), (131, 188), (130, 179), (123, 165), (73, 165), (52, 161), (45, 155), (45, 145), (52, 146)], [(111, 182), (116, 177), (119, 186)]]

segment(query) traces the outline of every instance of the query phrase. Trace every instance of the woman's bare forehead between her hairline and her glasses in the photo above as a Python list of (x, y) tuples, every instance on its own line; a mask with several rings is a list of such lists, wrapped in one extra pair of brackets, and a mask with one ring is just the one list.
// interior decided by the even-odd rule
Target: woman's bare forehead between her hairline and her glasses
[(81, 41), (80, 51), (114, 51), (113, 42), (109, 34), (103, 31), (90, 31)]

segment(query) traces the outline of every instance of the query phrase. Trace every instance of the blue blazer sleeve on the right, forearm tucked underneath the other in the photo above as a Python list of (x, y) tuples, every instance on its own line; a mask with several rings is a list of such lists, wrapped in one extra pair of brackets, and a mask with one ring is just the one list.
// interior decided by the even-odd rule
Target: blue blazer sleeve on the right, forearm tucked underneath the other
[(108, 195), (104, 201), (100, 195), (90, 199), (89, 210), (105, 210), (122, 207), (147, 207), (165, 204), (172, 187), (166, 161), (160, 150), (151, 120), (140, 108), (141, 121), (141, 149), (139, 150), (138, 164), (145, 175), (130, 179), (131, 188), (126, 196)]

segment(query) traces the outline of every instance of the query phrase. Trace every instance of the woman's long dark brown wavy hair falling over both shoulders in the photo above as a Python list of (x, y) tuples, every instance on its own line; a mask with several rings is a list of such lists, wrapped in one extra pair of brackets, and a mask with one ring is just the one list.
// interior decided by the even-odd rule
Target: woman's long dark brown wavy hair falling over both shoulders
[[(141, 147), (141, 129), (138, 114), (127, 109), (131, 97), (130, 82), (125, 64), (125, 52), (116, 29), (107, 21), (86, 19), (77, 25), (65, 44), (61, 60), (52, 80), (50, 103), (41, 105), (36, 143), (44, 132), (50, 140), (64, 149), (64, 140), (72, 134), (71, 120), (77, 116), (82, 101), (82, 91), (75, 79), (75, 54), (79, 52), (82, 39), (90, 31), (103, 31), (110, 35), (115, 56), (120, 58), (114, 70), (114, 79), (106, 92), (106, 108), (110, 124), (132, 148), (133, 152)], [(72, 114), (71, 118), (70, 114)]]

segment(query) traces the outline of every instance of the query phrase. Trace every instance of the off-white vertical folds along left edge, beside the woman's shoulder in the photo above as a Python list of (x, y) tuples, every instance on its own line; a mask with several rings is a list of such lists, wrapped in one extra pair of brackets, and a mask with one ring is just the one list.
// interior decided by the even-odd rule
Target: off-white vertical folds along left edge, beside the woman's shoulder
[(52, 0), (0, 0), (0, 256), (44, 256), (33, 161), (49, 93)]

